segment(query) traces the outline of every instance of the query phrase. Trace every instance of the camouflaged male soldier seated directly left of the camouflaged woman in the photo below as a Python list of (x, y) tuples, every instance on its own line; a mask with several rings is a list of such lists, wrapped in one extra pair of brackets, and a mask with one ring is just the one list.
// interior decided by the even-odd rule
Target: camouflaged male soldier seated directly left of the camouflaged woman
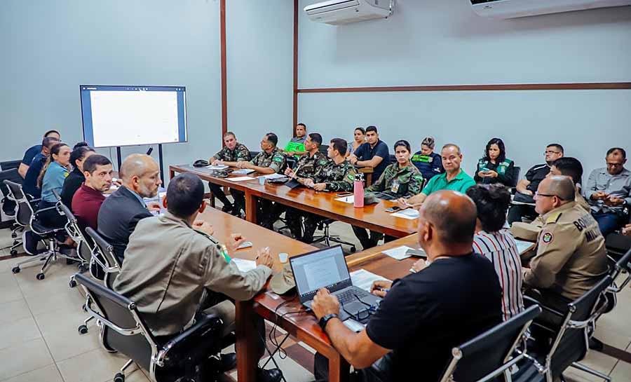
[[(313, 177), (299, 177), (298, 182), (315, 189), (315, 191), (351, 191), (355, 179), (355, 168), (351, 163), (345, 161), (346, 148), (347, 144), (344, 139), (332, 139), (329, 149), (327, 149), (327, 156), (330, 161), (321, 166)], [(292, 236), (304, 241), (304, 243), (313, 241), (315, 228), (318, 227), (320, 221), (325, 219), (292, 207), (287, 207), (285, 218), (287, 219), (287, 226), (292, 231)], [(301, 232), (300, 219), (304, 219), (304, 234)]]

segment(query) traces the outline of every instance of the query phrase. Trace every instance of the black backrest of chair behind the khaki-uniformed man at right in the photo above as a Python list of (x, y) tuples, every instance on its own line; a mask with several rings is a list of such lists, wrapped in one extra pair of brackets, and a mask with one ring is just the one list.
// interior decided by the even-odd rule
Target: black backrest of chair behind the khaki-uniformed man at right
[(600, 314), (596, 307), (604, 308), (604, 304), (599, 304), (599, 301), (604, 298), (604, 292), (611, 282), (611, 276), (606, 275), (583, 296), (568, 304), (563, 325), (546, 357), (546, 367), (552, 371), (552, 378), (560, 376), (573, 362), (582, 360), (587, 354), (587, 327)]

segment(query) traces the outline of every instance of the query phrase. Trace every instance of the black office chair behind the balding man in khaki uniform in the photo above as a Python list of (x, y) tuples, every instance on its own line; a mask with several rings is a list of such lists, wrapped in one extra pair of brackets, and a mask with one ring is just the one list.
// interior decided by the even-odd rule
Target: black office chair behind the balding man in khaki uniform
[[(598, 316), (602, 314), (601, 309), (604, 308), (604, 304), (599, 303), (599, 301), (604, 299), (604, 293), (611, 286), (612, 281), (611, 276), (606, 275), (583, 296), (569, 303), (566, 313), (560, 313), (539, 303), (541, 308), (548, 314), (562, 320), (560, 329), (550, 328), (547, 322), (539, 322), (538, 320), (535, 320), (532, 325), (533, 331), (537, 328), (543, 332), (552, 331), (553, 334), (552, 344), (550, 345), (545, 340), (542, 340), (542, 337), (537, 338), (537, 334), (533, 332), (536, 349), (529, 352), (534, 362), (531, 362), (528, 367), (537, 368), (545, 376), (546, 382), (553, 382), (557, 378), (563, 378), (563, 372), (568, 367), (575, 367), (605, 381), (611, 381), (609, 376), (586, 367), (579, 361), (583, 360), (585, 355), (587, 355), (589, 348), (588, 329)], [(527, 296), (524, 296), (524, 302), (527, 304), (538, 303), (538, 301)], [(517, 381), (519, 380), (517, 379)]]

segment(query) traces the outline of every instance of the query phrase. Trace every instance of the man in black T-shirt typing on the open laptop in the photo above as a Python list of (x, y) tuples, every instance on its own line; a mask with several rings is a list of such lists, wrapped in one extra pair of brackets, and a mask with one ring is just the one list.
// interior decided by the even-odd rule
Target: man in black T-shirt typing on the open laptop
[[(362, 369), (363, 381), (438, 381), (454, 346), (502, 321), (493, 265), (471, 252), (475, 219), (475, 204), (463, 193), (428, 196), (419, 217), (419, 244), (429, 265), (394, 282), (375, 282), (373, 293), (384, 299), (362, 332), (352, 332), (336, 317), (337, 297), (318, 291), (313, 313), (339, 353)], [(326, 369), (317, 354), (315, 377), (326, 379)]]

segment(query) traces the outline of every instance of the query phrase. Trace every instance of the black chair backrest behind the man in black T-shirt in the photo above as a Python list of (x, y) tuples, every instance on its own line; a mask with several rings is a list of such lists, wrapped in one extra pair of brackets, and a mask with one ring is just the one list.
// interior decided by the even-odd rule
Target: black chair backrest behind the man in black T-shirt
[[(440, 381), (473, 382), (485, 376), (492, 378), (502, 374), (524, 357), (524, 333), (540, 313), (540, 306), (531, 306), (510, 320), (501, 322), (474, 339), (453, 348), (452, 361), (449, 362)], [(515, 348), (520, 344), (524, 346), (522, 354), (513, 357)]]

